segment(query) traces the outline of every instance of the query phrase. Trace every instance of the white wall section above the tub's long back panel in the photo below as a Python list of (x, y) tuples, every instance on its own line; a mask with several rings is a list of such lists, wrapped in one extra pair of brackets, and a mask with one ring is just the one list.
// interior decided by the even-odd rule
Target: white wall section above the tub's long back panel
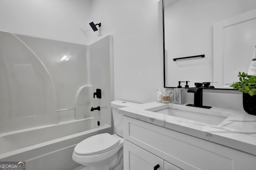
[(88, 45), (90, 0), (1, 0), (0, 31)]

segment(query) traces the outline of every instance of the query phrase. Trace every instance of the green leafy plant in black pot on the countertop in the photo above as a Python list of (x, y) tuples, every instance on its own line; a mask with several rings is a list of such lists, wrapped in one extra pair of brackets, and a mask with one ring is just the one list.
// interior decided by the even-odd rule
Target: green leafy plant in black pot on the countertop
[(256, 76), (238, 72), (240, 82), (234, 82), (230, 87), (243, 92), (244, 111), (256, 115)]

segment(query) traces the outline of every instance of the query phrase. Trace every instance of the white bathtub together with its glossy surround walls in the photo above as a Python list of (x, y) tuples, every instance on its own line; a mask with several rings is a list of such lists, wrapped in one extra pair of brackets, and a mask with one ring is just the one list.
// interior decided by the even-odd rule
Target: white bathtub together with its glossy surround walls
[(80, 141), (113, 133), (112, 53), (111, 35), (79, 45), (0, 31), (0, 161), (79, 166)]

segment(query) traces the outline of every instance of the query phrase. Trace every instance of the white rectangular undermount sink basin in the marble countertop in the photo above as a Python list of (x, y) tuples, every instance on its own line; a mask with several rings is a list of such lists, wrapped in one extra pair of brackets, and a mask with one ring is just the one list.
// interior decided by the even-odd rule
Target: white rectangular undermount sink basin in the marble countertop
[(183, 119), (208, 123), (210, 125), (219, 125), (232, 114), (230, 112), (218, 111), (216, 109), (194, 108), (175, 104), (166, 104), (166, 107), (167, 108), (164, 109), (162, 109), (162, 107), (154, 107), (147, 110)]

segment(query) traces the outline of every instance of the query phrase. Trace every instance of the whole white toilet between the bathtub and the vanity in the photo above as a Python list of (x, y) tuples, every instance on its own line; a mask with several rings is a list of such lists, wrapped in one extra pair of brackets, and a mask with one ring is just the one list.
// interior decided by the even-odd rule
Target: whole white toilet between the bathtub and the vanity
[(72, 158), (85, 165), (82, 170), (123, 170), (123, 115), (118, 113), (118, 108), (136, 104), (122, 100), (111, 102), (115, 134), (94, 135), (76, 145)]

